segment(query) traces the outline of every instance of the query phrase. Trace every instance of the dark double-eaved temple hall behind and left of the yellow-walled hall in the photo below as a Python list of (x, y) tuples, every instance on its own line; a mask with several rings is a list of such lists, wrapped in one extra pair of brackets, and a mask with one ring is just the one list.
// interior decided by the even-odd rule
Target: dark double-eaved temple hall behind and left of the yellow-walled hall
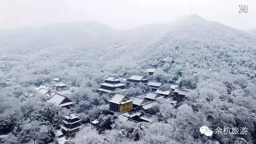
[(100, 88), (97, 91), (102, 94), (103, 92), (113, 92), (115, 89), (125, 89), (125, 84), (120, 82), (119, 78), (108, 77), (104, 83), (100, 84)]

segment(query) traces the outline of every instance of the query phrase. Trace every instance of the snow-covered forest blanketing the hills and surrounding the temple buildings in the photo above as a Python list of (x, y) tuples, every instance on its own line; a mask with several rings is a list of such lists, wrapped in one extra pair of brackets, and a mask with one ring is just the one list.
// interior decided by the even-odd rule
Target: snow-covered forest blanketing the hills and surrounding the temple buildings
[[(115, 45), (119, 45), (118, 48)], [(252, 144), (256, 141), (256, 35), (198, 16), (172, 24), (116, 30), (101, 23), (55, 24), (0, 32), (0, 143), (48, 144), (67, 109), (34, 92), (52, 78), (77, 86), (72, 110), (84, 122), (99, 119), (102, 133), (84, 127), (75, 144)], [(177, 107), (160, 101), (152, 123), (106, 115), (108, 95), (93, 92), (109, 75), (128, 78), (166, 63), (154, 81), (196, 87)], [(175, 60), (172, 63), (172, 60)], [(101, 69), (103, 71), (101, 71)], [(6, 82), (6, 80), (9, 80)], [(131, 86), (128, 95), (145, 92)], [(247, 135), (204, 137), (199, 128), (248, 127)], [(19, 127), (17, 133), (12, 130)], [(120, 134), (121, 132), (121, 134)], [(72, 143), (72, 142), (70, 142)]]

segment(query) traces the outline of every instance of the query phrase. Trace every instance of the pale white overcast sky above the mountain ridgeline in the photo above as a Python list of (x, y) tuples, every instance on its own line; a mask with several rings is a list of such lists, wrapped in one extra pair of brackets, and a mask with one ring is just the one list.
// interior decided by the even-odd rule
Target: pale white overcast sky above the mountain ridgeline
[[(239, 4), (248, 5), (247, 14), (239, 14)], [(237, 29), (256, 29), (256, 0), (0, 0), (0, 29), (76, 21), (130, 29), (191, 12)]]

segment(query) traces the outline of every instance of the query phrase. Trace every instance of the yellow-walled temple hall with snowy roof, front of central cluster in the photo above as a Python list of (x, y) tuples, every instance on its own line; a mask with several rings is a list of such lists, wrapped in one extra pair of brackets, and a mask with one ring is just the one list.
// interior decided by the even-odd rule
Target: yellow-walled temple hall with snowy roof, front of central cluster
[(109, 100), (109, 110), (114, 112), (125, 112), (133, 109), (133, 99), (125, 95), (116, 94)]

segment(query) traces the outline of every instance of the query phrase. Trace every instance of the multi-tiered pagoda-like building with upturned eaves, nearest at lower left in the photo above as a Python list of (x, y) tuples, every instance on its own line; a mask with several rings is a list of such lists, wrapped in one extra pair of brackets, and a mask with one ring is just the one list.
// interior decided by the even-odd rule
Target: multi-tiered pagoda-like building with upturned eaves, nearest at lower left
[(74, 135), (84, 126), (84, 124), (80, 123), (82, 119), (80, 119), (79, 116), (80, 115), (77, 115), (76, 112), (70, 112), (69, 115), (64, 115), (64, 118), (62, 119), (63, 124), (60, 125), (64, 135)]

